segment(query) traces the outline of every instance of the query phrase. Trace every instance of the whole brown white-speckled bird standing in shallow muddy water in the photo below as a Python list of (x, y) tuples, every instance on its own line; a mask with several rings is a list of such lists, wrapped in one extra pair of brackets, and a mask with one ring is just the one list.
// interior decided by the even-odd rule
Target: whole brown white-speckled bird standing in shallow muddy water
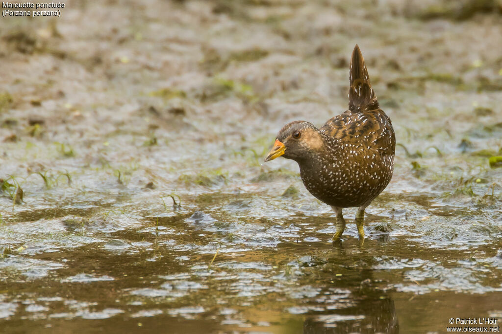
[(347, 111), (320, 129), (305, 121), (285, 125), (265, 158), (283, 156), (298, 162), (307, 190), (336, 213), (333, 239), (345, 229), (346, 207), (358, 207), (355, 222), (359, 238), (364, 238), (364, 209), (387, 187), (394, 169), (394, 129), (379, 108), (357, 45), (349, 75)]

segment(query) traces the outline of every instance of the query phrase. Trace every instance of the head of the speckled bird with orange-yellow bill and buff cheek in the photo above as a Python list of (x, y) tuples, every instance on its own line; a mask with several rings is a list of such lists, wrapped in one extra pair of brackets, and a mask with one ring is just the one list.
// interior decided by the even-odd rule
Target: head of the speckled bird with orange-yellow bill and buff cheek
[(291, 122), (279, 131), (274, 147), (265, 161), (274, 160), (280, 156), (295, 161), (308, 159), (322, 146), (322, 135), (315, 126), (305, 121)]

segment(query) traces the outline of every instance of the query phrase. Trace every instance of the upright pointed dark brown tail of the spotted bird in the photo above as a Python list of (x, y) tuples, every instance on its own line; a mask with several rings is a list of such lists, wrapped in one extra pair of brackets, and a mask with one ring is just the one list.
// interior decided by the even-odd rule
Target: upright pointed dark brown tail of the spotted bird
[(350, 60), (349, 79), (348, 109), (354, 113), (378, 109), (379, 104), (369, 83), (368, 71), (366, 70), (361, 50), (359, 50), (357, 44)]

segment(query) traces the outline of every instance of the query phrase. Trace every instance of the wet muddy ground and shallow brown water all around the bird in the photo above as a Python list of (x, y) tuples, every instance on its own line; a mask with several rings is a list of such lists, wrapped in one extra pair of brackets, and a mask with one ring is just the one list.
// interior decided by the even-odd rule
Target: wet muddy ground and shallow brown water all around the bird
[[(66, 3), (53, 22), (0, 21), (2, 332), (502, 321), (498, 12)], [(367, 239), (345, 209), (333, 244), (297, 165), (263, 158), (286, 122), (345, 110), (355, 43), (400, 145)]]

